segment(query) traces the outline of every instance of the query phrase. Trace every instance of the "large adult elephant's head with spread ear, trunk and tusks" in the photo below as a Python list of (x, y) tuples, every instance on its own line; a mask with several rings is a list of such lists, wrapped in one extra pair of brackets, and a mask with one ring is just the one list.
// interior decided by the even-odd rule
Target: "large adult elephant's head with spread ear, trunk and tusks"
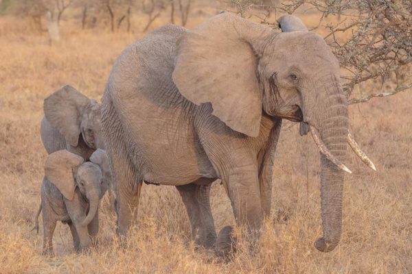
[[(304, 125), (321, 151), (323, 237), (331, 251), (341, 238), (348, 137), (347, 99), (339, 62), (311, 32), (277, 33), (229, 13), (192, 29), (178, 45), (172, 75), (181, 94), (231, 129), (256, 137), (262, 112)], [(356, 146), (357, 151), (360, 151)]]

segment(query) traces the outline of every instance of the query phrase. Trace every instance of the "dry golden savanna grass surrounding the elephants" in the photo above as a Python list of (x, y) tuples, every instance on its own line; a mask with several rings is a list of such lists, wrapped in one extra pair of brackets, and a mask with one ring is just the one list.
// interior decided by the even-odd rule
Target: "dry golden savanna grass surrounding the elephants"
[[(194, 14), (190, 26), (214, 10)], [(303, 18), (316, 25), (312, 17)], [(349, 153), (346, 164), (353, 174), (345, 181), (343, 234), (330, 253), (313, 246), (321, 234), (319, 153), (310, 136), (300, 137), (297, 125), (285, 123), (275, 160), (272, 214), (253, 252), (241, 248), (230, 262), (219, 262), (196, 249), (175, 188), (145, 185), (138, 225), (126, 249), (115, 237), (115, 214), (106, 195), (98, 247), (87, 255), (75, 253), (69, 228), (59, 223), (56, 257), (41, 256), (42, 230), (36, 235), (31, 228), (46, 157), (39, 134), (43, 99), (71, 84), (100, 100), (117, 55), (144, 35), (138, 27), (130, 34), (81, 32), (78, 24), (63, 21), (61, 41), (50, 46), (46, 34), (0, 17), (0, 273), (412, 273), (410, 92), (350, 106), (351, 131), (378, 171)], [(355, 92), (376, 88), (370, 84)], [(214, 184), (211, 197), (216, 229), (232, 224), (220, 184)]]

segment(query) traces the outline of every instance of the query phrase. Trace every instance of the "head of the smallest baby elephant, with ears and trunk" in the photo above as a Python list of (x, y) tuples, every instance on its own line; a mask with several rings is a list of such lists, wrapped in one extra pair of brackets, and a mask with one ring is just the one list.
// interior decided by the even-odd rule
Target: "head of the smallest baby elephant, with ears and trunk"
[[(79, 155), (67, 150), (60, 150), (50, 154), (45, 163), (45, 175), (54, 184), (62, 195), (72, 201), (76, 187), (81, 195), (89, 201), (90, 208), (82, 225), (88, 225), (98, 212), (99, 201), (107, 189), (99, 163), (106, 161), (106, 153), (93, 153), (95, 162), (84, 162)], [(80, 205), (79, 205), (80, 206)]]

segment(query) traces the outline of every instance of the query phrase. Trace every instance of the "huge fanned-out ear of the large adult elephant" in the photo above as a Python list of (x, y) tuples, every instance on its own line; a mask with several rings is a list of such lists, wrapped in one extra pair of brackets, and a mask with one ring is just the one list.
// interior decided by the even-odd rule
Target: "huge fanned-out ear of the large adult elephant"
[(179, 40), (173, 81), (181, 95), (231, 129), (258, 136), (262, 100), (258, 78), (260, 42), (273, 31), (228, 12), (211, 17)]

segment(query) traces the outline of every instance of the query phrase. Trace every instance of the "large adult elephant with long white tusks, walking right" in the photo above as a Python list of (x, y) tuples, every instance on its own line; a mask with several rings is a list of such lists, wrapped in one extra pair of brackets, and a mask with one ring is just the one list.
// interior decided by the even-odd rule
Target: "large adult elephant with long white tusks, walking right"
[[(222, 13), (192, 30), (166, 25), (137, 40), (117, 58), (102, 99), (117, 233), (126, 236), (135, 219), (142, 182), (173, 185), (196, 243), (211, 247), (217, 178), (237, 224), (259, 231), (271, 210), (282, 119), (301, 122), (321, 151), (323, 236), (315, 246), (331, 251), (341, 237), (343, 171), (350, 172), (348, 113), (339, 62), (323, 38)], [(222, 229), (218, 248), (230, 231)]]

